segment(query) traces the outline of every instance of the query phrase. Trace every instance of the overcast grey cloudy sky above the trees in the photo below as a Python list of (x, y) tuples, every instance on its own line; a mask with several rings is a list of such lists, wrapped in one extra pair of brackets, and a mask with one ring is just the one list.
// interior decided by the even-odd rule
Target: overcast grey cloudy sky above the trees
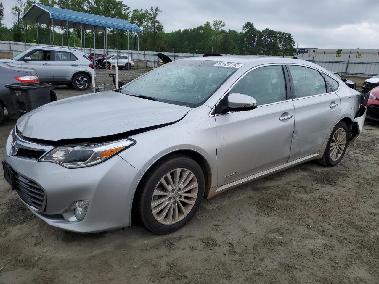
[[(250, 21), (258, 30), (291, 33), (301, 47), (379, 48), (379, 0), (123, 1), (131, 9), (158, 5), (166, 32), (197, 27), (214, 19), (224, 20), (226, 29), (241, 31)], [(3, 1), (7, 27), (11, 27), (12, 4)]]

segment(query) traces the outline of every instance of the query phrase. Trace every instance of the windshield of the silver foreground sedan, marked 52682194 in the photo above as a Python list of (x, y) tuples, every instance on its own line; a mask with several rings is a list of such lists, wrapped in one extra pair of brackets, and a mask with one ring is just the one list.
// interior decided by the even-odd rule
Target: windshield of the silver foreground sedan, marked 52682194
[(121, 92), (196, 108), (237, 70), (215, 64), (217, 61), (173, 61), (125, 85)]

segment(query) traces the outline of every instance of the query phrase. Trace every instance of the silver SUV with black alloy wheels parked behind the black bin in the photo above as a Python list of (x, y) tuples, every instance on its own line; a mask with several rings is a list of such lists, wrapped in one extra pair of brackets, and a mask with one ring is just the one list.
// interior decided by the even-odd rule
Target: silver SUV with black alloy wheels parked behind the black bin
[(32, 47), (14, 56), (0, 59), (12, 66), (30, 67), (36, 70), (41, 83), (74, 85), (84, 91), (92, 83), (92, 62), (83, 52), (63, 47)]

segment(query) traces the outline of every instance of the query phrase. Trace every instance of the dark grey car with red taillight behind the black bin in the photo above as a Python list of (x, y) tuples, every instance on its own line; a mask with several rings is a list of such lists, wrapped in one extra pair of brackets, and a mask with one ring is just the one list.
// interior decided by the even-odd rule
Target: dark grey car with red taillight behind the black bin
[(6, 84), (39, 82), (36, 70), (20, 66), (10, 66), (0, 62), (0, 123), (4, 119), (4, 109), (8, 112), (8, 117), (16, 118), (17, 106)]

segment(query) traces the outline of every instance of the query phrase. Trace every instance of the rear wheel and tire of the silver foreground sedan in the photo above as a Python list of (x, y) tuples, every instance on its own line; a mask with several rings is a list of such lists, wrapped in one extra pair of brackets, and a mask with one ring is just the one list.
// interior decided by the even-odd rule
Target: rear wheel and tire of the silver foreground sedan
[[(339, 133), (337, 133), (339, 131)], [(345, 136), (345, 141), (343, 139), (338, 139), (338, 137)], [(337, 147), (337, 150), (333, 150), (335, 147), (333, 147), (337, 142), (341, 141), (340, 143), (345, 143), (345, 145), (341, 145), (340, 147)], [(346, 148), (348, 147), (348, 140), (349, 140), (349, 129), (345, 122), (340, 121), (337, 123), (337, 125), (333, 128), (332, 134), (329, 137), (328, 144), (326, 145), (325, 153), (322, 158), (317, 159), (316, 161), (320, 165), (324, 165), (326, 167), (334, 167), (335, 165), (338, 165), (343, 156), (345, 155)], [(343, 147), (343, 148), (342, 148)]]

